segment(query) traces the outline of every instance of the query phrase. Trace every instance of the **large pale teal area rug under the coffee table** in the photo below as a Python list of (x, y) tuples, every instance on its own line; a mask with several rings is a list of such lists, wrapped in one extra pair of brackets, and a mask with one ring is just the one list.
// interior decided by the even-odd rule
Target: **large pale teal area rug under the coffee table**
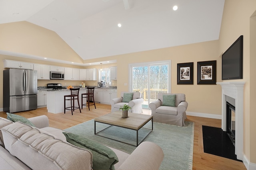
[[(193, 146), (194, 146), (194, 122), (185, 121), (186, 127), (168, 125), (164, 123), (153, 123), (153, 131), (144, 141), (156, 143), (164, 151), (164, 160), (160, 170), (192, 170), (193, 163)], [(152, 122), (148, 122), (144, 127), (151, 128)], [(114, 141), (106, 137), (94, 135), (94, 120), (90, 120), (79, 125), (65, 129), (70, 133), (83, 135), (94, 141), (113, 147), (124, 152), (132, 153), (136, 144), (136, 131), (96, 123), (96, 132), (102, 129), (99, 135), (110, 137), (126, 143)], [(147, 135), (148, 129), (140, 129), (138, 132), (139, 142)]]

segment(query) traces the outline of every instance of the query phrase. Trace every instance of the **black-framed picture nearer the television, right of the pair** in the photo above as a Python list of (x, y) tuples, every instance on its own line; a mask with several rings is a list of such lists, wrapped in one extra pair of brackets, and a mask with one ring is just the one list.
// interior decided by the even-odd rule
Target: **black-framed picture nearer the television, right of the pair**
[(197, 62), (197, 84), (216, 84), (216, 60)]

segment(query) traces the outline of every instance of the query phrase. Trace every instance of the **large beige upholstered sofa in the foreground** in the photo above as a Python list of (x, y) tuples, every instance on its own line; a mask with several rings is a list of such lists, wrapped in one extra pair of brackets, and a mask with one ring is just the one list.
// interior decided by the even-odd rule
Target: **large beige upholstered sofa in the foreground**
[[(29, 119), (36, 127), (0, 117), (0, 169), (92, 170), (92, 152), (66, 142), (61, 129), (49, 127), (45, 115)], [(116, 170), (159, 169), (164, 154), (152, 142), (142, 142), (132, 154), (112, 149)]]

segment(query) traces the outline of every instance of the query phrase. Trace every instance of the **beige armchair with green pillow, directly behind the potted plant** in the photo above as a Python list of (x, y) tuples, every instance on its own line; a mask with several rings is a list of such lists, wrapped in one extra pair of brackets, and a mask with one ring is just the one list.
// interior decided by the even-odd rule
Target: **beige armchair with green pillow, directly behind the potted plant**
[(142, 113), (142, 103), (140, 92), (121, 92), (120, 98), (110, 100), (111, 112), (118, 111), (124, 104), (128, 104), (132, 109), (129, 112)]

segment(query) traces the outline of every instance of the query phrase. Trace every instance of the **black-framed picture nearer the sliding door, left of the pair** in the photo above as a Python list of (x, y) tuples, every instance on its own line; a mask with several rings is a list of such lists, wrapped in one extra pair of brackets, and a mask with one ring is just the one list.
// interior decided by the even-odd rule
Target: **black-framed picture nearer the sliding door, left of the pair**
[(177, 64), (177, 84), (193, 84), (194, 63)]

